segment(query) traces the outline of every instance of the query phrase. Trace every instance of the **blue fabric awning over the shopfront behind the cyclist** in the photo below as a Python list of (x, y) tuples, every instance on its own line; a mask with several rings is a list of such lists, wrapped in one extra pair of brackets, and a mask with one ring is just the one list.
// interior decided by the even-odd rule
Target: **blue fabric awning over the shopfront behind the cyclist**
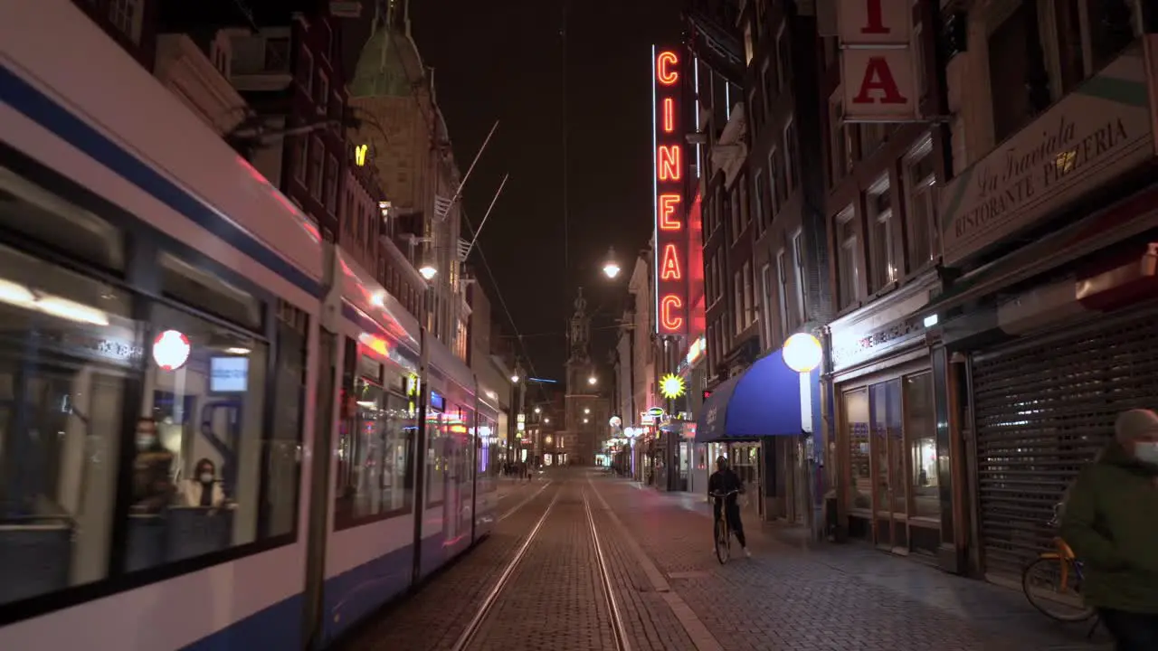
[[(819, 380), (813, 371), (807, 386)], [(800, 432), (800, 374), (784, 364), (778, 350), (716, 387), (696, 419), (696, 442)]]

